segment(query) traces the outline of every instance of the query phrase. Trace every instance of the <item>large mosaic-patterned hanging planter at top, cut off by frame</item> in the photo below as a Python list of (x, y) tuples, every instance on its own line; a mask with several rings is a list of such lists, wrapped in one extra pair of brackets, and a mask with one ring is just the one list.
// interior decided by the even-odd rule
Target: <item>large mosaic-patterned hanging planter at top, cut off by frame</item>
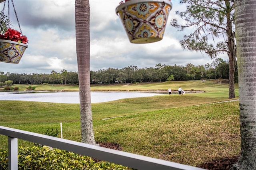
[(164, 37), (170, 0), (129, 0), (116, 8), (131, 43), (158, 42)]

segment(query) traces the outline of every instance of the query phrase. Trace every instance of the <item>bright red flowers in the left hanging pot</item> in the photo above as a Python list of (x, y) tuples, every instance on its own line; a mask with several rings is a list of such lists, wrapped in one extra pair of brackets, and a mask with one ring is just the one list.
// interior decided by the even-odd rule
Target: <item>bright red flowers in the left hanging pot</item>
[(1, 39), (3, 40), (11, 40), (18, 43), (26, 44), (28, 42), (28, 38), (26, 36), (22, 36), (22, 34), (12, 28), (8, 28), (4, 35), (1, 35)]

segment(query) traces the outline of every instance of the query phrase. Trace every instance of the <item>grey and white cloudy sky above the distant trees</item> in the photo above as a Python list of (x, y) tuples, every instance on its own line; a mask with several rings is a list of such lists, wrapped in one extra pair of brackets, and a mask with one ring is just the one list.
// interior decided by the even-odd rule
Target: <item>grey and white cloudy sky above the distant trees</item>
[[(163, 40), (154, 43), (130, 43), (116, 15), (120, 0), (90, 0), (90, 69), (122, 69), (129, 65), (138, 68), (192, 63), (204, 65), (212, 60), (206, 55), (183, 50), (179, 44), (183, 36), (192, 29), (179, 32), (170, 26), (175, 11), (184, 11), (179, 0), (172, 0), (173, 8)], [(26, 49), (20, 63), (0, 62), (4, 73), (46, 73), (77, 71), (75, 40), (75, 0), (14, 0), (23, 35), (28, 37)], [(11, 5), (11, 4), (10, 4)], [(1, 10), (4, 3), (1, 3)], [(6, 15), (7, 3), (6, 3)], [(19, 30), (14, 10), (10, 8), (12, 28)], [(228, 60), (227, 54), (221, 56)]]

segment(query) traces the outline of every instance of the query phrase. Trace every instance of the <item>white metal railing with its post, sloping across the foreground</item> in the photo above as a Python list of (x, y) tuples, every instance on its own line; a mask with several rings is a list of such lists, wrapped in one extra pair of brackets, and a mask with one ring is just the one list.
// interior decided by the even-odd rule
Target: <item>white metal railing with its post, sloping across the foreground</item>
[(202, 168), (194, 166), (178, 164), (166, 160), (150, 158), (148, 156), (132, 154), (14, 128), (0, 126), (0, 134), (8, 136), (8, 168), (10, 170), (18, 170), (18, 139), (59, 148), (61, 150), (86, 155), (139, 170), (203, 170)]

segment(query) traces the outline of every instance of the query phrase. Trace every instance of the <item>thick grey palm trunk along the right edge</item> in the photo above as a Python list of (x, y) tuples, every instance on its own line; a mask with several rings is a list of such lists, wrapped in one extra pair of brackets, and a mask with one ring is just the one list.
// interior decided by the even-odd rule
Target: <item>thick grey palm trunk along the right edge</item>
[(235, 1), (240, 158), (232, 170), (256, 170), (256, 1)]

